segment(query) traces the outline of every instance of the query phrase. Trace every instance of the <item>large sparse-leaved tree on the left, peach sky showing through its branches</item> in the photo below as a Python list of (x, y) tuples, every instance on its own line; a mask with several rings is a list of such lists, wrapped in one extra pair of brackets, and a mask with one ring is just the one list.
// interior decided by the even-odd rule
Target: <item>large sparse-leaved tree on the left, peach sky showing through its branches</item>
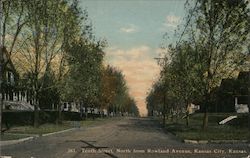
[[(66, 48), (81, 35), (87, 36), (91, 28), (77, 1), (6, 0), (3, 6), (4, 46), (20, 78), (28, 74), (29, 85), (23, 87), (32, 91), (37, 127), (40, 93), (55, 87), (60, 90), (67, 74)], [(45, 83), (48, 73), (55, 79), (50, 87)]]

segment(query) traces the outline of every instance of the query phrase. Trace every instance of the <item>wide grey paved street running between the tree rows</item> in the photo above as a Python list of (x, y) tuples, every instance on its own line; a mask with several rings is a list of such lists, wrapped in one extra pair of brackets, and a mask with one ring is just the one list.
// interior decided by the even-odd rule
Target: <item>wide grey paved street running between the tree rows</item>
[(184, 144), (150, 118), (122, 118), (4, 146), (1, 152), (14, 158), (243, 158), (250, 155), (250, 144)]

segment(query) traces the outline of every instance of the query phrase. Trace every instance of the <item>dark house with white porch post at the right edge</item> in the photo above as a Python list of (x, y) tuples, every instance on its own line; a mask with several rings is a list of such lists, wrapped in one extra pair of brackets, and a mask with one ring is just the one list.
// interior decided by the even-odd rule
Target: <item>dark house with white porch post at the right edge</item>
[(240, 72), (236, 79), (223, 79), (214, 90), (210, 112), (247, 113), (250, 71)]

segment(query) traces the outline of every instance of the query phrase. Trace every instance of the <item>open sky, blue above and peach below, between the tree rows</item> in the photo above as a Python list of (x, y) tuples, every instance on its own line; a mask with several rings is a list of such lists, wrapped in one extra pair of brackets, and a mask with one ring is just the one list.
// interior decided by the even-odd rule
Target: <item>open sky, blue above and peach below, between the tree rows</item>
[[(105, 62), (122, 70), (129, 93), (145, 116), (146, 97), (159, 77), (155, 57), (161, 44), (176, 39), (185, 17), (186, 0), (80, 0), (97, 38), (106, 39)], [(168, 40), (163, 40), (164, 34)]]

